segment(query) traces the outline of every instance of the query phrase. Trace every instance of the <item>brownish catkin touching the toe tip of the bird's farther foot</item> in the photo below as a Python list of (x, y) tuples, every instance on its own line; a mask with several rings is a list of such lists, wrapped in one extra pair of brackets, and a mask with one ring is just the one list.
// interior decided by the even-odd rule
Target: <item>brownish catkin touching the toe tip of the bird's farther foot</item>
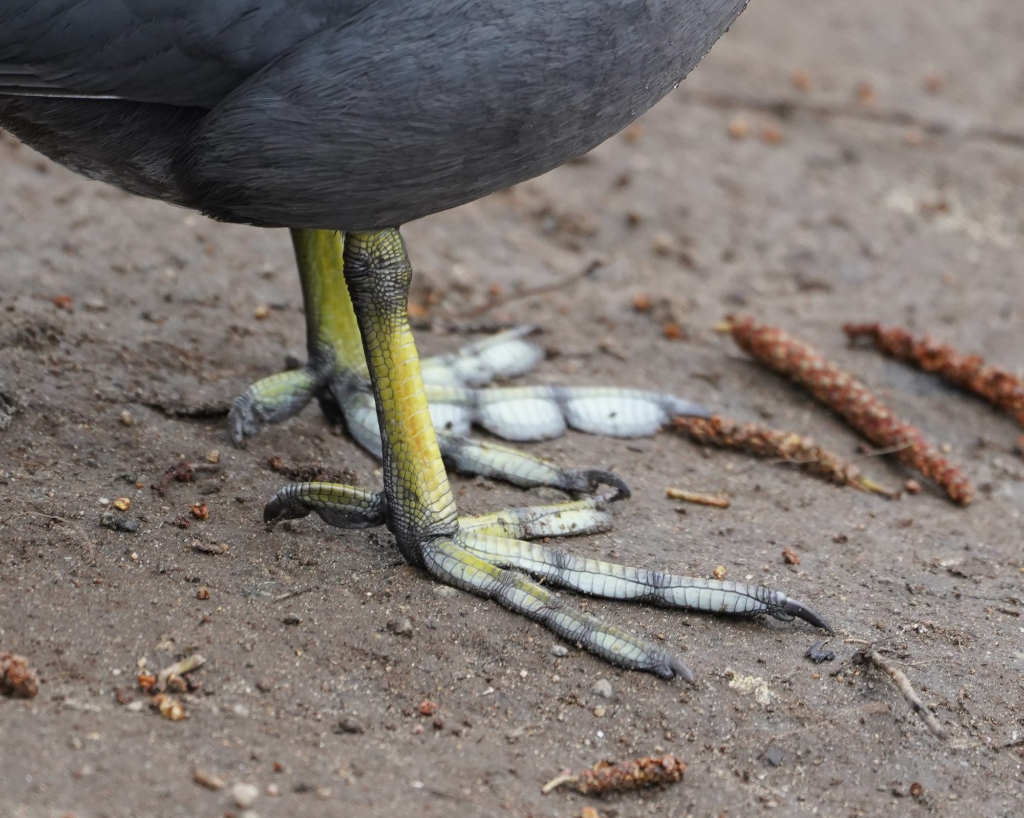
[(852, 486), (864, 492), (874, 492), (884, 497), (899, 497), (860, 473), (860, 469), (835, 452), (822, 449), (806, 435), (796, 431), (768, 428), (758, 423), (744, 423), (721, 415), (687, 417), (678, 415), (672, 427), (706, 446), (736, 449), (755, 457), (776, 457), (795, 463), (805, 471), (824, 478), (837, 486)]

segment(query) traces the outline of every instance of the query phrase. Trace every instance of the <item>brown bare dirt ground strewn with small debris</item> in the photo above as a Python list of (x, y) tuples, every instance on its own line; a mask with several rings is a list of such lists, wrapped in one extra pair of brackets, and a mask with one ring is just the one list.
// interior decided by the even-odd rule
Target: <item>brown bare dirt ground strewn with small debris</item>
[[(1021, 429), (848, 349), (840, 324), (930, 328), (1024, 365), (1022, 41), (1019, 0), (754, 3), (626, 134), (406, 229), (434, 315), (607, 261), (483, 316), (544, 329), (553, 355), (538, 380), (670, 391), (856, 456), (839, 421), (711, 331), (742, 307), (861, 375), (976, 479), (964, 510), (927, 489), (889, 502), (669, 434), (535, 447), (612, 468), (635, 491), (615, 530), (568, 541), (574, 552), (703, 576), (722, 565), (840, 630), (836, 661), (816, 666), (804, 625), (585, 603), (684, 651), (693, 688), (573, 647), (553, 655), (540, 627), (439, 593), (386, 532), (316, 518), (267, 532), (263, 502), (285, 481), (271, 456), (379, 482), (313, 407), (246, 451), (228, 443), (229, 399), (302, 353), (287, 234), (131, 198), (0, 144), (0, 650), (41, 677), (36, 698), (0, 699), (0, 815), (223, 815), (238, 812), (237, 782), (258, 787), (259, 815), (309, 818), (578, 816), (587, 803), (623, 818), (1019, 815)], [(634, 311), (637, 293), (651, 313)], [(668, 321), (685, 337), (667, 338)], [(470, 337), (419, 334), (428, 353)], [(215, 472), (151, 488), (214, 449)], [(907, 476), (882, 458), (864, 467), (889, 485)], [(455, 480), (467, 511), (530, 501)], [(723, 490), (732, 505), (682, 509), (670, 485)], [(120, 496), (133, 533), (99, 525), (101, 498)], [(950, 739), (854, 665), (860, 643), (847, 639), (887, 648)], [(196, 650), (208, 662), (193, 674), (201, 689), (180, 696), (187, 720), (119, 703), (141, 662)], [(761, 677), (767, 703), (731, 676)], [(599, 679), (610, 699), (591, 692)], [(420, 715), (424, 699), (435, 715)], [(689, 764), (683, 784), (599, 803), (540, 792), (564, 767), (662, 749)], [(225, 787), (195, 783), (197, 769)]]

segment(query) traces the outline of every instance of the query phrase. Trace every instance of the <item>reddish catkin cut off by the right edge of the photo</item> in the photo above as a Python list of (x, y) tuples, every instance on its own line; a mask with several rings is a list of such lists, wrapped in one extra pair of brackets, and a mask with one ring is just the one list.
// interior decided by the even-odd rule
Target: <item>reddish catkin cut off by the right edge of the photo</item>
[(843, 331), (851, 340), (870, 340), (879, 352), (983, 398), (1024, 426), (1024, 381), (1006, 369), (986, 364), (978, 355), (964, 355), (931, 335), (915, 336), (899, 327), (845, 324)]

